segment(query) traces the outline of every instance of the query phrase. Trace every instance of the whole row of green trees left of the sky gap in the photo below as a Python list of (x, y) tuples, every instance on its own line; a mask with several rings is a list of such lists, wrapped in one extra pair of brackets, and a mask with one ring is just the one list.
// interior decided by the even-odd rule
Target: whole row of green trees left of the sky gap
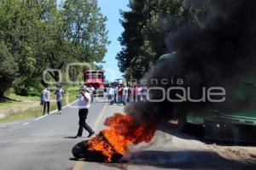
[[(101, 63), (107, 53), (107, 18), (97, 0), (0, 0), (0, 98), (37, 94), (45, 69), (70, 62)], [(56, 71), (49, 71), (56, 82)]]

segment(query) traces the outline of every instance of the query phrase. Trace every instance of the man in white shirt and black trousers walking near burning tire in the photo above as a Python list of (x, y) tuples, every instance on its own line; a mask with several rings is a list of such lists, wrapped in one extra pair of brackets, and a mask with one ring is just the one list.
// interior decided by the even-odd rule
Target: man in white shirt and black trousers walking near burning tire
[(90, 94), (87, 88), (84, 86), (80, 87), (79, 94), (79, 131), (75, 138), (82, 137), (83, 128), (88, 131), (90, 138), (95, 132), (90, 128), (90, 126), (85, 122), (90, 108)]

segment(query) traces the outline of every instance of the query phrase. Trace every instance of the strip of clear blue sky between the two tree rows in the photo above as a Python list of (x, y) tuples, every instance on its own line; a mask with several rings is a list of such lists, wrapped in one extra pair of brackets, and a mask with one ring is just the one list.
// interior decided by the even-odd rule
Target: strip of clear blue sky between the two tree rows
[(118, 37), (120, 37), (124, 31), (123, 26), (119, 23), (119, 19), (121, 19), (119, 9), (125, 11), (129, 10), (127, 7), (128, 3), (129, 0), (98, 0), (98, 5), (101, 8), (102, 14), (108, 18), (108, 40), (111, 41), (108, 45), (108, 53), (104, 58), (106, 64), (103, 64), (106, 80), (108, 81), (113, 81), (113, 79), (122, 77), (115, 56), (122, 48), (119, 44)]

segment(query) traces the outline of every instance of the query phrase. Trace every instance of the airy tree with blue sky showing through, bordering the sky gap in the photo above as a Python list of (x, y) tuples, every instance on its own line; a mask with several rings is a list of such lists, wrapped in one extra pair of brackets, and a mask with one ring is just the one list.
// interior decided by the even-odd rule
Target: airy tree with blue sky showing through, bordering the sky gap
[(107, 18), (100, 13), (96, 0), (67, 0), (63, 7), (65, 37), (71, 52), (80, 61), (102, 62), (107, 53)]

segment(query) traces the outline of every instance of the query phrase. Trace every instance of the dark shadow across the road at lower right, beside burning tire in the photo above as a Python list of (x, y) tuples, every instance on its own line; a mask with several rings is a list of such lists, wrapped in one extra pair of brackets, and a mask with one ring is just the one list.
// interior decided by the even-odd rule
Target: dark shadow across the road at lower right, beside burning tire
[[(78, 161), (75, 158), (70, 158), (69, 160)], [(144, 150), (131, 153), (118, 163), (90, 162), (122, 170), (127, 169), (129, 165), (178, 169), (255, 169), (253, 164), (242, 161), (230, 161), (215, 152), (199, 150)]]

